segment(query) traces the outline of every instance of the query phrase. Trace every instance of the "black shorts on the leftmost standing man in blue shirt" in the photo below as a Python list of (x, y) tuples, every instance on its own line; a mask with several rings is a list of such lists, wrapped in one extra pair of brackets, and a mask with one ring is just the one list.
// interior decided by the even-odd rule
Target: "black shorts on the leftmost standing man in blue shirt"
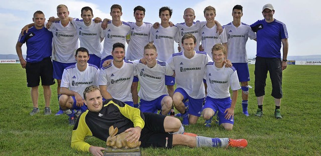
[(40, 78), (41, 85), (50, 86), (55, 84), (53, 78), (53, 66), (50, 57), (44, 58), (37, 63), (28, 63), (26, 65), (27, 86), (39, 86)]

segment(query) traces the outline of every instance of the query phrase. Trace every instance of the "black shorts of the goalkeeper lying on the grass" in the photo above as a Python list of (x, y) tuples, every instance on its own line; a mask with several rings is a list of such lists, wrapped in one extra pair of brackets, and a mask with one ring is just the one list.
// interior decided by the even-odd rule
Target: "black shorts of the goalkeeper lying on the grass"
[(141, 130), (141, 147), (173, 147), (173, 134), (165, 132), (165, 115), (143, 113), (145, 126)]

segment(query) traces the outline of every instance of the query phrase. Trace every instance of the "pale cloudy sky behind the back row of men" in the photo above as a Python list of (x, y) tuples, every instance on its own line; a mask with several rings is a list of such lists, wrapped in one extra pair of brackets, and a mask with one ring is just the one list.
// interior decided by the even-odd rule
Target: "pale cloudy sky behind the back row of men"
[[(241, 22), (245, 24), (253, 24), (257, 20), (262, 20), (262, 7), (265, 4), (272, 4), (275, 10), (274, 19), (283, 22), (288, 32), (289, 51), (288, 56), (303, 55), (319, 55), (319, 49), (316, 47), (320, 44), (319, 37), (321, 31), (321, 16), (319, 14), (320, 1), (257, 1), (257, 0), (226, 0), (226, 1), (190, 1), (163, 0), (162, 3), (157, 1), (76, 1), (76, 0), (56, 0), (56, 1), (30, 1), (30, 0), (0, 0), (0, 54), (17, 54), (16, 43), (18, 41), (21, 29), (30, 23), (33, 23), (33, 14), (40, 10), (45, 14), (46, 20), (49, 17), (57, 17), (56, 7), (64, 4), (68, 7), (70, 17), (81, 18), (81, 8), (91, 7), (94, 17), (101, 19), (110, 17), (110, 7), (113, 4), (119, 4), (122, 7), (121, 20), (125, 22), (134, 22), (133, 8), (142, 6), (146, 9), (144, 22), (155, 23), (160, 22), (158, 10), (161, 7), (168, 6), (173, 9), (171, 20), (174, 24), (184, 22), (183, 14), (186, 8), (193, 8), (198, 21), (205, 21), (204, 8), (213, 6), (216, 9), (216, 18), (221, 25), (230, 23), (232, 18), (232, 8), (235, 5), (243, 6), (243, 17)], [(197, 3), (195, 3), (197, 2)], [(310, 25), (312, 30), (308, 31), (306, 25)], [(316, 28), (316, 30), (314, 29)], [(305, 47), (304, 47), (305, 46)], [(177, 46), (175, 46), (177, 47)], [(254, 58), (256, 55), (256, 42), (248, 40), (247, 42), (248, 58)], [(26, 54), (26, 45), (23, 46), (23, 54)], [(281, 50), (282, 54), (282, 50)]]

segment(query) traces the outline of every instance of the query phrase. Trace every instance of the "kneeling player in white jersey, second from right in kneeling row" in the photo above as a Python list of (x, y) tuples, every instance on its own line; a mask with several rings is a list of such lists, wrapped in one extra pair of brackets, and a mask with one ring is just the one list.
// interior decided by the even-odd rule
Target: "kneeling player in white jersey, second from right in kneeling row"
[[(173, 96), (175, 108), (182, 113), (183, 124), (195, 124), (201, 116), (205, 87), (203, 83), (205, 65), (211, 60), (205, 52), (196, 52), (196, 38), (192, 34), (183, 36), (184, 52), (173, 54), (168, 60), (175, 70), (177, 89)], [(183, 101), (189, 100), (189, 109)], [(190, 116), (189, 116), (190, 114)]]

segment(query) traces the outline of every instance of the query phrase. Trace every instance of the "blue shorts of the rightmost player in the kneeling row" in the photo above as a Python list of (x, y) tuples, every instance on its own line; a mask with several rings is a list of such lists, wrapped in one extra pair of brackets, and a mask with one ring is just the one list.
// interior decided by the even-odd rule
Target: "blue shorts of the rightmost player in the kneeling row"
[(207, 96), (205, 99), (205, 105), (204, 105), (203, 109), (211, 108), (214, 112), (216, 112), (218, 110), (217, 115), (220, 118), (219, 124), (221, 124), (221, 123), (234, 124), (234, 116), (232, 119), (228, 120), (228, 119), (225, 119), (226, 113), (224, 113), (227, 108), (231, 107), (231, 102), (232, 102), (232, 100), (230, 97), (227, 97), (224, 99), (215, 99), (215, 98), (211, 98), (211, 97)]

